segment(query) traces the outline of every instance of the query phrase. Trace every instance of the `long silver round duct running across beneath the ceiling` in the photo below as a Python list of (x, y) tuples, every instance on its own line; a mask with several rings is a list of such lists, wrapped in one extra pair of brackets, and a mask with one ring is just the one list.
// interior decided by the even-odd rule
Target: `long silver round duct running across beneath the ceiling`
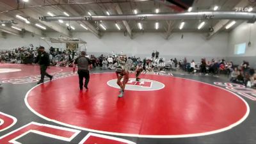
[(255, 20), (256, 13), (254, 12), (235, 12), (235, 11), (225, 11), (225, 12), (185, 12), (185, 13), (143, 13), (134, 15), (92, 15), (92, 16), (43, 16), (40, 17), (41, 20), (220, 20), (220, 19), (232, 19), (232, 20)]

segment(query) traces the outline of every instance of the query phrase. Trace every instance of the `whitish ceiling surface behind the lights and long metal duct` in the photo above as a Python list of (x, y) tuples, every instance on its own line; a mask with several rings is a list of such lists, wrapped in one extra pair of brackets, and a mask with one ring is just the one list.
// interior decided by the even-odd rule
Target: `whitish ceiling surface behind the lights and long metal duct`
[[(19, 4), (17, 3), (19, 1)], [(127, 2), (125, 2), (127, 1)], [(136, 1), (136, 0), (135, 0)], [(170, 13), (175, 12), (172, 8), (167, 6), (164, 3), (160, 3), (159, 1), (132, 1), (129, 2), (129, 0), (70, 0), (72, 3), (81, 3), (81, 4), (67, 4), (68, 0), (29, 0), (28, 3), (24, 3), (22, 0), (0, 0), (0, 20), (12, 20), (14, 19), (15, 22), (18, 23), (19, 26), (23, 26), (26, 29), (26, 25), (29, 25), (33, 27), (34, 29), (38, 29), (35, 24), (39, 23), (43, 26), (46, 25), (46, 30), (41, 31), (58, 31), (63, 32), (67, 31), (66, 23), (70, 24), (75, 30), (72, 30), (72, 32), (90, 32), (89, 30), (86, 30), (79, 26), (81, 22), (77, 21), (64, 21), (63, 24), (61, 24), (58, 21), (51, 21), (44, 23), (40, 20), (38, 20), (39, 16), (48, 16), (47, 12), (52, 12), (54, 15), (64, 15), (63, 12), (67, 12), (70, 16), (83, 16), (88, 15), (87, 12), (91, 12), (93, 15), (106, 15), (106, 11), (108, 10), (111, 15), (116, 15), (117, 12), (115, 10), (115, 5), (119, 4), (122, 12), (124, 14), (133, 14), (134, 9), (138, 10), (138, 13), (154, 13), (156, 8), (159, 8), (161, 13)], [(248, 0), (195, 0), (193, 4), (193, 11), (201, 11), (201, 10), (212, 10), (212, 6), (218, 5), (220, 7), (220, 11), (231, 11), (234, 10), (234, 6), (236, 6), (237, 3), (241, 1), (248, 1)], [(97, 3), (96, 3), (97, 2)], [(113, 3), (111, 3), (113, 2)], [(86, 4), (84, 4), (86, 3)], [(90, 3), (90, 4), (89, 4)], [(66, 4), (66, 5), (64, 5)], [(40, 6), (40, 5), (51, 5), (51, 6)], [(19, 10), (17, 9), (19, 6)], [(33, 7), (34, 6), (34, 7)], [(9, 11), (9, 12), (4, 12)], [(19, 20), (15, 17), (15, 15), (22, 15), (23, 17), (28, 17), (31, 24), (26, 24), (24, 21)], [(6, 19), (8, 18), (8, 19)], [(173, 24), (173, 31), (175, 32), (208, 32), (210, 26), (215, 26), (220, 20), (205, 20), (205, 26), (204, 28), (198, 30), (198, 24), (200, 24), (200, 20), (185, 20), (184, 28), (180, 31), (179, 25), (180, 20), (172, 21)], [(138, 32), (140, 29), (138, 28), (138, 22), (135, 20), (127, 21), (129, 24), (129, 27), (132, 29), (132, 32)], [(236, 28), (239, 24), (241, 24), (243, 21), (238, 20), (236, 24), (231, 28), (228, 29), (228, 31), (232, 30), (233, 28)], [(118, 29), (115, 27), (116, 21), (102, 21), (99, 22), (102, 23), (107, 28), (107, 32), (113, 32), (118, 31)], [(99, 24), (98, 23), (98, 24)], [(120, 31), (125, 31), (125, 27), (123, 22), (117, 22), (120, 26)], [(145, 32), (162, 32), (165, 33), (166, 29), (168, 29), (168, 22), (166, 20), (160, 20), (159, 21), (159, 29), (155, 29), (155, 23), (154, 20), (147, 20), (141, 22), (143, 24), (143, 31)], [(84, 24), (85, 26), (86, 24)], [(92, 29), (97, 28), (96, 22), (90, 22), (90, 25)], [(8, 27), (8, 26), (7, 26)], [(57, 28), (58, 27), (58, 28)], [(0, 26), (0, 31), (3, 26)], [(99, 27), (100, 28), (100, 27)], [(27, 29), (26, 29), (27, 30)], [(33, 30), (30, 30), (33, 31)], [(227, 31), (225, 28), (222, 28), (221, 31)], [(103, 29), (99, 29), (100, 33), (104, 33), (105, 31)], [(64, 32), (63, 32), (64, 33)]]

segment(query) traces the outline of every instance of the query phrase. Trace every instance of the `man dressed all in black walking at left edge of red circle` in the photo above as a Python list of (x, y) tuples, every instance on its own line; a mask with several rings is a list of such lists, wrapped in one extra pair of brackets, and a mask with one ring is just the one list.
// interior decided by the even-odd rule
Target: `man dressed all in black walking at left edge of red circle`
[(42, 46), (38, 49), (38, 56), (36, 57), (35, 63), (39, 63), (41, 72), (41, 79), (37, 84), (44, 83), (44, 76), (49, 77), (51, 81), (52, 76), (46, 72), (47, 67), (50, 65), (49, 54), (44, 51), (44, 47)]

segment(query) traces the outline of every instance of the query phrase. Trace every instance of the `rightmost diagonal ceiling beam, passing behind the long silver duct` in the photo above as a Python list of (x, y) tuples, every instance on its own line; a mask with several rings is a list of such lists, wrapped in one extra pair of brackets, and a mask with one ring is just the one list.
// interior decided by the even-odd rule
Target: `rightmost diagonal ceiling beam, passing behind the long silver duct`
[[(248, 1), (241, 0), (238, 4), (236, 4), (236, 6), (234, 6), (233, 9), (244, 8), (244, 7), (248, 6), (248, 4), (249, 4)], [(214, 36), (218, 32), (220, 32), (220, 30), (223, 29), (224, 26), (226, 26), (228, 24), (228, 22), (230, 22), (230, 20), (223, 19), (223, 20), (220, 20), (217, 24), (215, 24), (215, 26), (212, 27), (214, 29), (214, 31), (208, 33), (208, 35), (206, 37), (207, 40), (211, 39), (212, 36)]]

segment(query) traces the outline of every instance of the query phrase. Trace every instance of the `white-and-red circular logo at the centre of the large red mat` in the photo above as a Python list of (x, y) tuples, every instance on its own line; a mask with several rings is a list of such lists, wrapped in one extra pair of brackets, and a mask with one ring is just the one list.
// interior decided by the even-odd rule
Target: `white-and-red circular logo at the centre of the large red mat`
[[(113, 88), (120, 88), (116, 84), (117, 79), (111, 79), (108, 81), (108, 85)], [(140, 79), (136, 81), (134, 78), (130, 78), (125, 86), (125, 90), (134, 90), (134, 91), (150, 91), (150, 90), (161, 90), (164, 88), (164, 84), (159, 81), (153, 81), (151, 79)]]

